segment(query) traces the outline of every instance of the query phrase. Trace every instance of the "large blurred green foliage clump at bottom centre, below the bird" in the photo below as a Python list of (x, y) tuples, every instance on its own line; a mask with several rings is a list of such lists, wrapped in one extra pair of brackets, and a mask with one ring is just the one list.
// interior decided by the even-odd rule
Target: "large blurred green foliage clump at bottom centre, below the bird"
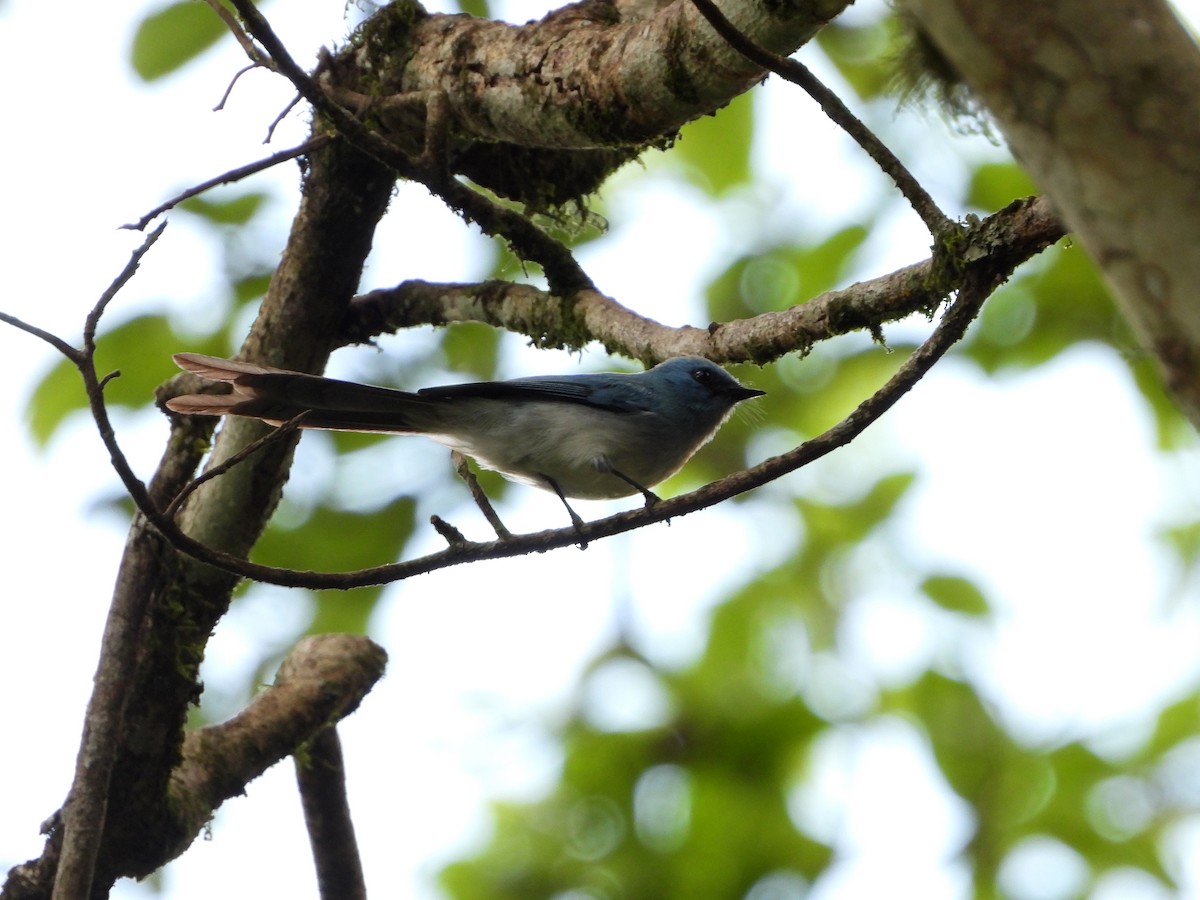
[(910, 484), (886, 478), (842, 509), (802, 502), (809, 540), (714, 612), (690, 666), (661, 670), (625, 646), (601, 655), (589, 676), (614, 660), (636, 662), (668, 697), (666, 721), (606, 731), (581, 702), (556, 734), (558, 786), (533, 804), (497, 804), (491, 845), (443, 871), (450, 895), (739, 898), (784, 874), (797, 884), (818, 877), (832, 850), (797, 824), (788, 794), (828, 722), (806, 703), (792, 648), (779, 637), (790, 620), (828, 622), (836, 602), (798, 570), (853, 548)]

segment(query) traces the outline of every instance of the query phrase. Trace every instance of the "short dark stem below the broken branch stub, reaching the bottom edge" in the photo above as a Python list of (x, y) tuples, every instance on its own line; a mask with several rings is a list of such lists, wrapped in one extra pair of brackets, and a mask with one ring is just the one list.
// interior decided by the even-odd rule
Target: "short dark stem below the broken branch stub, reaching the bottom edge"
[(334, 726), (325, 728), (294, 758), (322, 900), (366, 900), (337, 730)]

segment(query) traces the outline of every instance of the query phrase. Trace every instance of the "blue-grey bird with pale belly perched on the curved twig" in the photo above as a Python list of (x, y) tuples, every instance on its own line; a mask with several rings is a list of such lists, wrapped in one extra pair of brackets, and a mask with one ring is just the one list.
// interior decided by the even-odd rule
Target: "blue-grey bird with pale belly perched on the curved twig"
[(710, 360), (674, 356), (637, 373), (533, 376), (402, 391), (176, 353), (175, 364), (230, 394), (167, 401), (187, 415), (239, 415), (301, 428), (422, 434), (505, 478), (568, 498), (641, 493), (678, 472), (725, 424), (733, 408), (764, 391), (739, 383)]

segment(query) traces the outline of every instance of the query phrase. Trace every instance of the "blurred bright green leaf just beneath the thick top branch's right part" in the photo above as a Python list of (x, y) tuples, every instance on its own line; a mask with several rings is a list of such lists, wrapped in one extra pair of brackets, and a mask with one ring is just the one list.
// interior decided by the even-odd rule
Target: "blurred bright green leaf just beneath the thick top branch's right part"
[(720, 197), (750, 180), (752, 138), (754, 97), (748, 92), (685, 125), (671, 158), (684, 164), (695, 185)]

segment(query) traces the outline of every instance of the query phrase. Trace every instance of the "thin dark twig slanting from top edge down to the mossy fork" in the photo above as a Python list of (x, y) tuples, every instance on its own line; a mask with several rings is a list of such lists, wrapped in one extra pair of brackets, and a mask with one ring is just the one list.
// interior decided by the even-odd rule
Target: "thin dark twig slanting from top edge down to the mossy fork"
[(763, 49), (750, 38), (738, 31), (724, 13), (716, 7), (713, 0), (691, 0), (700, 10), (708, 24), (724, 37), (733, 49), (745, 56), (757, 66), (770, 70), (780, 78), (785, 78), (792, 84), (802, 88), (812, 97), (827, 116), (850, 137), (852, 137), (863, 150), (875, 161), (884, 174), (889, 175), (900, 188), (917, 215), (920, 216), (930, 234), (935, 238), (948, 234), (959, 226), (950, 220), (922, 187), (920, 182), (912, 176), (895, 154), (880, 140), (852, 112), (841, 102), (841, 98), (826, 88), (821, 80), (809, 71), (808, 66), (787, 56)]

